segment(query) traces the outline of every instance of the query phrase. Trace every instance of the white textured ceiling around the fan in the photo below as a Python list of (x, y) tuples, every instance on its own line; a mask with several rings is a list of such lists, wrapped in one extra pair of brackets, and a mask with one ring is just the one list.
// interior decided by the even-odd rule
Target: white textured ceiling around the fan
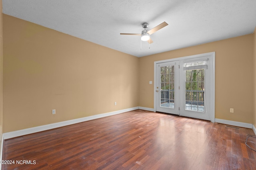
[[(142, 57), (253, 33), (256, 0), (2, 0), (3, 13)], [(149, 29), (169, 25), (140, 41)], [(142, 49), (141, 49), (142, 45)]]

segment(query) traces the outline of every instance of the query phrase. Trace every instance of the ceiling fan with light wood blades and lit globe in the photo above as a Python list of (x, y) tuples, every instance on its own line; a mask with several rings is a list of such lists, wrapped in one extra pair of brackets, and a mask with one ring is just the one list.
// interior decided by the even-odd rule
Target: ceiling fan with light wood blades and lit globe
[(162, 22), (159, 25), (157, 25), (156, 27), (150, 29), (149, 31), (146, 30), (146, 28), (148, 27), (148, 23), (142, 23), (142, 27), (144, 28), (144, 30), (141, 32), (141, 34), (136, 34), (136, 33), (120, 33), (120, 35), (141, 35), (141, 40), (142, 41), (148, 41), (148, 43), (153, 43), (152, 39), (150, 38), (150, 35), (156, 31), (158, 31), (159, 29), (162, 29), (163, 27), (167, 26), (168, 23), (166, 22)]

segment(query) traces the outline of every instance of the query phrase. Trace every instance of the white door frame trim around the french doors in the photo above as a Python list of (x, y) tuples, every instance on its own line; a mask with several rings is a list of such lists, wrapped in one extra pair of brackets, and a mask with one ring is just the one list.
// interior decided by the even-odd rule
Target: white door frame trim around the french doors
[(159, 63), (165, 63), (165, 62), (170, 62), (170, 61), (181, 61), (181, 60), (186, 60), (186, 59), (194, 59), (198, 57), (210, 57), (212, 58), (211, 64), (209, 64), (209, 69), (212, 69), (211, 75), (210, 75), (210, 106), (209, 106), (209, 111), (210, 111), (210, 121), (212, 123), (215, 122), (215, 52), (210, 52), (210, 53), (203, 53), (203, 54), (198, 54), (198, 55), (190, 55), (186, 57), (179, 57), (175, 59), (167, 59), (167, 60), (161, 60), (161, 61), (155, 61), (154, 62), (154, 112), (156, 112), (156, 64)]

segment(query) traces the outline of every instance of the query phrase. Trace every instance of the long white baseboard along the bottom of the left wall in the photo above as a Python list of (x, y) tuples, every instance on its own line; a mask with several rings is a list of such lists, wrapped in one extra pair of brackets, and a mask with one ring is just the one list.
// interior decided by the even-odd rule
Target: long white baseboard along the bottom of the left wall
[(72, 125), (75, 123), (80, 123), (80, 122), (88, 121), (88, 120), (92, 120), (92, 119), (98, 119), (101, 117), (116, 115), (116, 114), (124, 113), (127, 111), (133, 111), (133, 110), (137, 110), (137, 109), (139, 109), (139, 107), (132, 107), (132, 108), (128, 108), (128, 109), (112, 111), (109, 113), (102, 113), (102, 114), (98, 114), (98, 115), (82, 117), (82, 118), (72, 119), (72, 120), (68, 120), (68, 121), (61, 121), (58, 123), (52, 123), (52, 124), (48, 124), (48, 125), (31, 127), (31, 128), (27, 128), (27, 129), (18, 130), (18, 131), (7, 132), (7, 133), (3, 133), (2, 140), (10, 139), (10, 138), (18, 137), (18, 136), (23, 136), (23, 135), (28, 135), (28, 134), (36, 133), (36, 132), (40, 132), (40, 131), (46, 131), (49, 129), (54, 129), (54, 128), (58, 128), (58, 127), (66, 126), (66, 125)]

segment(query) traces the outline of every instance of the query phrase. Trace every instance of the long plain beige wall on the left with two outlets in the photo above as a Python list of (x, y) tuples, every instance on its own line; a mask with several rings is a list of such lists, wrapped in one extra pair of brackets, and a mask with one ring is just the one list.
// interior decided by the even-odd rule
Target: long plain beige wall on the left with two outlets
[(137, 57), (3, 19), (4, 132), (138, 106)]

